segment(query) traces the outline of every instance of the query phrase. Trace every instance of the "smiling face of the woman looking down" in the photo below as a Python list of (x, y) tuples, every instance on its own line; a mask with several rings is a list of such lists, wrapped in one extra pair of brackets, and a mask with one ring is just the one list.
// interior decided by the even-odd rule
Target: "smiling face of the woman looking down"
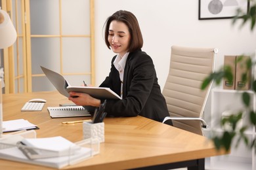
[(110, 42), (112, 51), (123, 56), (128, 52), (130, 40), (131, 35), (127, 25), (113, 20), (108, 30), (108, 42)]

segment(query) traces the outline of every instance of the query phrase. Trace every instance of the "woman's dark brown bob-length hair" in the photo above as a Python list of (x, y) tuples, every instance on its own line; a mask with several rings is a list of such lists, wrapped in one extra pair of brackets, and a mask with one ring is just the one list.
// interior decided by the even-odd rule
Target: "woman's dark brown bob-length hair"
[(139, 50), (143, 46), (143, 38), (140, 31), (140, 26), (135, 15), (127, 10), (119, 10), (112, 14), (112, 16), (108, 17), (105, 22), (105, 43), (110, 49), (110, 42), (108, 42), (108, 34), (110, 23), (116, 20), (118, 22), (123, 22), (127, 25), (129, 29), (129, 33), (131, 34), (131, 40), (129, 44), (128, 52), (134, 52), (135, 50)]

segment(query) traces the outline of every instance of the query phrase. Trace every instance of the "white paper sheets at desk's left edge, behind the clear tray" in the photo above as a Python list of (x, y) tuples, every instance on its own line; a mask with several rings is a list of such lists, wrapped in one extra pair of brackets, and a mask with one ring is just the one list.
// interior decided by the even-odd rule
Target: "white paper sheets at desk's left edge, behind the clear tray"
[(23, 129), (37, 129), (37, 128), (38, 127), (36, 125), (24, 119), (3, 121), (3, 132), (20, 131)]

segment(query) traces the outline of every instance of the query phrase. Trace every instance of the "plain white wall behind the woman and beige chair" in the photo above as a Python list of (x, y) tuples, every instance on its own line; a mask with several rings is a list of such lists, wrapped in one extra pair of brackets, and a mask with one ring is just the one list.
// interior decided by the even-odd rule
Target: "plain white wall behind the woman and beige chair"
[(161, 89), (169, 71), (172, 45), (215, 47), (217, 69), (224, 55), (253, 54), (256, 31), (246, 25), (232, 25), (232, 20), (198, 20), (198, 0), (95, 0), (95, 68), (96, 86), (110, 71), (114, 53), (104, 44), (102, 27), (108, 16), (117, 10), (129, 10), (137, 16), (144, 46), (156, 67)]

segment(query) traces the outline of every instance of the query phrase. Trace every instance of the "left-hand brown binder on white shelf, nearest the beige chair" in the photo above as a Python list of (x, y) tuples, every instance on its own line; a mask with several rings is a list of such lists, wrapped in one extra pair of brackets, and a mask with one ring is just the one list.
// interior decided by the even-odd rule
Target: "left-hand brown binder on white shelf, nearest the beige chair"
[(224, 66), (230, 66), (233, 75), (233, 81), (228, 82), (226, 78), (223, 79), (223, 89), (234, 90), (236, 78), (236, 56), (224, 56)]

